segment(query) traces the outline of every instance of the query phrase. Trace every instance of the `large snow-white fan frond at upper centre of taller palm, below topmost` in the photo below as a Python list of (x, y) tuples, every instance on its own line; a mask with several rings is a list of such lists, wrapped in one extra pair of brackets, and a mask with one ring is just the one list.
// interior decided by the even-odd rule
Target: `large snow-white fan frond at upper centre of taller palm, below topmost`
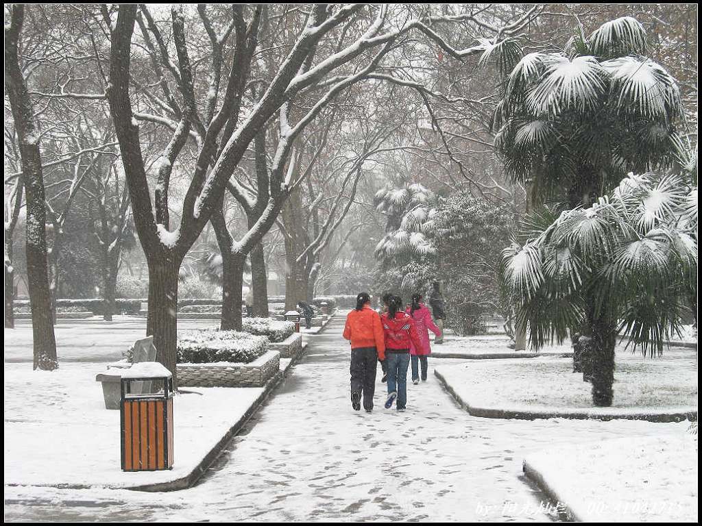
[(556, 56), (546, 65), (543, 81), (530, 90), (527, 105), (535, 115), (560, 114), (563, 109), (584, 112), (599, 104), (606, 77), (593, 57)]

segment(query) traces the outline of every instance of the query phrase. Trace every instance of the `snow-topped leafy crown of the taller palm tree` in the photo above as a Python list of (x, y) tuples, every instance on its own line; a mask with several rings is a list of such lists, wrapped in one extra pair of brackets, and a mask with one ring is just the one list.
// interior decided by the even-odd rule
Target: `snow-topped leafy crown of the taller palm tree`
[[(644, 27), (623, 17), (559, 53), (528, 53), (505, 76), (495, 144), (513, 180), (536, 201), (591, 203), (630, 172), (669, 168), (680, 147), (680, 90), (645, 56)], [(496, 56), (497, 59), (491, 59)], [(506, 71), (514, 46), (488, 48), (482, 62)]]

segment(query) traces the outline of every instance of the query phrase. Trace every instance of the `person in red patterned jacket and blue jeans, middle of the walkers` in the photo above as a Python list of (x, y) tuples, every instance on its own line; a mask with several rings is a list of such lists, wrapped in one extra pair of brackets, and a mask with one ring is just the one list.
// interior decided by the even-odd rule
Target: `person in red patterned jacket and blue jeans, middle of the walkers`
[(388, 312), (380, 316), (385, 335), (385, 360), (388, 364), (388, 400), (385, 409), (390, 409), (397, 399), (397, 410), (404, 411), (407, 404), (407, 368), (409, 349), (412, 345), (421, 348), (417, 328), (413, 319), (402, 311), (402, 298), (392, 296)]

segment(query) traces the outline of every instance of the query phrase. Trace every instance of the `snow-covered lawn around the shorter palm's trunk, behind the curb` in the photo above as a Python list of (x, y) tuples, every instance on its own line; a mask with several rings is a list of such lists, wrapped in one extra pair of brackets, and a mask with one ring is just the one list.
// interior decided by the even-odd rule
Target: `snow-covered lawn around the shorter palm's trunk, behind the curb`
[[(446, 364), (446, 365), (444, 365)], [(590, 383), (572, 372), (573, 360), (557, 356), (508, 360), (435, 362), (437, 371), (472, 407), (524, 410), (590, 408)], [(697, 353), (672, 348), (644, 358), (620, 347), (616, 353), (614, 407), (696, 407)]]

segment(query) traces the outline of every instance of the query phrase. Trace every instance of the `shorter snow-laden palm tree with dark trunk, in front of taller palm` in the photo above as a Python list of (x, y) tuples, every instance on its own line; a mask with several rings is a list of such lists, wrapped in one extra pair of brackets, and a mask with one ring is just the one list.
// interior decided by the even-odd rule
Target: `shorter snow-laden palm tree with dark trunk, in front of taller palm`
[(609, 406), (616, 337), (661, 353), (697, 294), (697, 187), (630, 174), (589, 207), (550, 213), (527, 218), (523, 244), (503, 253), (503, 279), (536, 349), (585, 327), (592, 400)]

